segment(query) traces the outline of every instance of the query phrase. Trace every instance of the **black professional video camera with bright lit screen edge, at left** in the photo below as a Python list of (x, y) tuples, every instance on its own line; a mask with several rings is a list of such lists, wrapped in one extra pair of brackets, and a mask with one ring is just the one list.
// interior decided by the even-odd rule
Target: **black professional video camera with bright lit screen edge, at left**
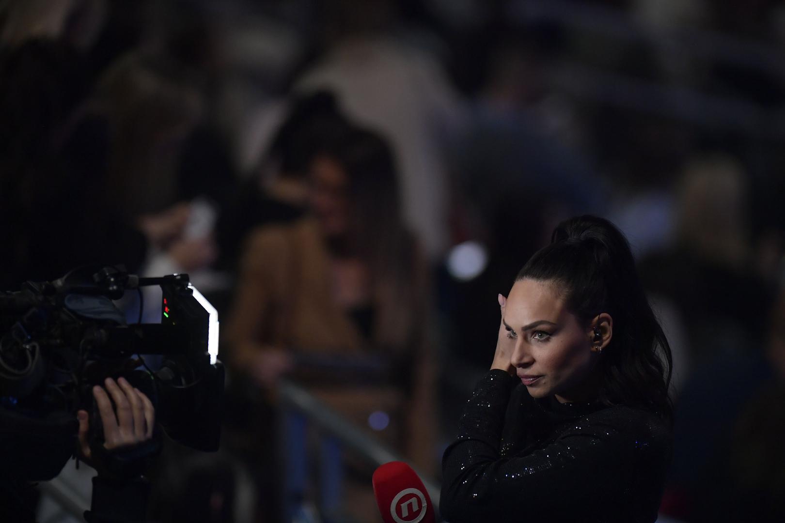
[[(146, 285), (162, 289), (161, 322), (127, 324), (112, 300)], [(170, 438), (217, 450), (224, 390), (217, 312), (188, 274), (138, 278), (123, 267), (82, 267), (28, 281), (0, 293), (0, 333), (5, 476), (56, 476), (75, 449), (76, 411), (95, 412), (92, 387), (107, 377), (123, 376), (144, 392)], [(100, 423), (90, 430), (101, 445)]]

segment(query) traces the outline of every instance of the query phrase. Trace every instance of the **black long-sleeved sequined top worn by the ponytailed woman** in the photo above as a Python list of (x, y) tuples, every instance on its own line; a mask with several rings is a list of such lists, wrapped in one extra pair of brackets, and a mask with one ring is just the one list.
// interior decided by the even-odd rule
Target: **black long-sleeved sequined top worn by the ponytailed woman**
[(450, 523), (649, 523), (670, 456), (670, 428), (652, 413), (531, 398), (491, 370), (444, 452), (440, 511)]

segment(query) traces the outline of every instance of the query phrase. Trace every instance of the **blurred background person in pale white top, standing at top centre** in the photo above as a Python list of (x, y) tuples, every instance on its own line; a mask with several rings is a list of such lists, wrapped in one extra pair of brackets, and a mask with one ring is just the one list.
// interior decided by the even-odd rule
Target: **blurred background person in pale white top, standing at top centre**
[(449, 238), (444, 147), (462, 127), (462, 100), (433, 56), (396, 38), (396, 10), (389, 0), (327, 2), (327, 52), (295, 90), (329, 89), (349, 118), (385, 133), (398, 152), (403, 220), (437, 261)]

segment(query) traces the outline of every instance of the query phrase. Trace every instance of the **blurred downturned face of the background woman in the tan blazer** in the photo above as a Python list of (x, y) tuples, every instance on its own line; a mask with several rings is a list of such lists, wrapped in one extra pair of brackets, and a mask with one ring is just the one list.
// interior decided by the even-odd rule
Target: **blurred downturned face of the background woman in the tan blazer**
[(327, 236), (341, 236), (349, 228), (349, 179), (338, 162), (319, 156), (311, 163), (309, 202)]

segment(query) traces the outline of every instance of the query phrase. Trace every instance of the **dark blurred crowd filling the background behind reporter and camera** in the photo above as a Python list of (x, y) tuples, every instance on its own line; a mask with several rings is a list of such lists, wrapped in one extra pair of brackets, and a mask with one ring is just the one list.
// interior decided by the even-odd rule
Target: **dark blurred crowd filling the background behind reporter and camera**
[(785, 521), (783, 46), (774, 0), (0, 0), (0, 289), (188, 272), (225, 430), (156, 516), (281, 521), (282, 378), (438, 479), (497, 294), (604, 216), (674, 349), (661, 513)]

